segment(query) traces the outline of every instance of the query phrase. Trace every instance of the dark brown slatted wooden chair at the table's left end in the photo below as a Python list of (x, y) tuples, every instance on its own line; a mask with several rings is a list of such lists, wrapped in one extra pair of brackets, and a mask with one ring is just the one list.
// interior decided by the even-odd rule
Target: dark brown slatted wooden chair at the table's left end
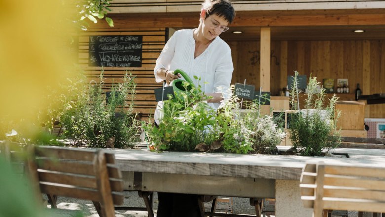
[(113, 154), (103, 150), (28, 146), (27, 167), (35, 188), (56, 196), (91, 200), (100, 217), (114, 217), (123, 203), (123, 180)]

